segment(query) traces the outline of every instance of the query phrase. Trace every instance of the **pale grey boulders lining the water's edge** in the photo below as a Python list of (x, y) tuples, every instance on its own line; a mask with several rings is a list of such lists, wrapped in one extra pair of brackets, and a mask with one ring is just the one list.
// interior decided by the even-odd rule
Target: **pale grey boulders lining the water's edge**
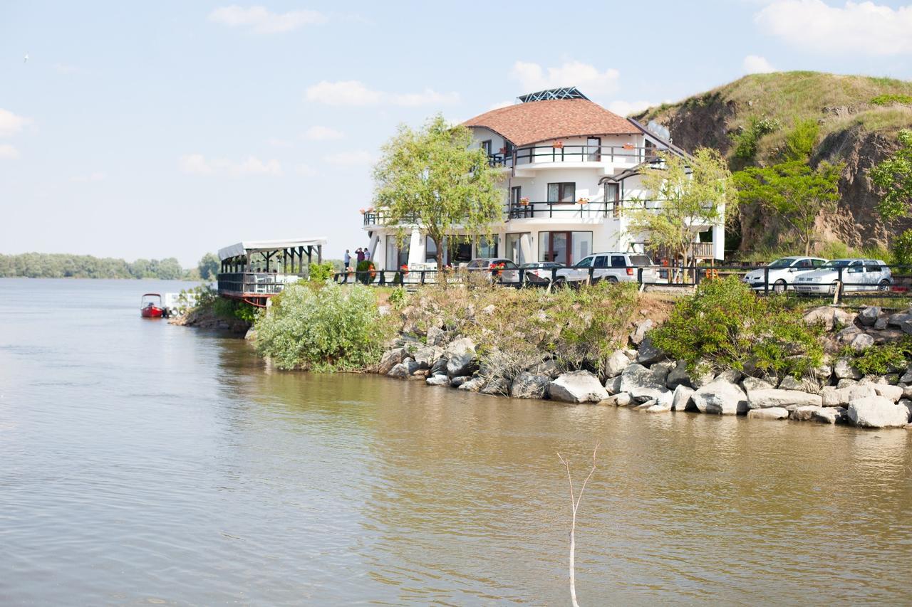
[(668, 360), (652, 345), (651, 320), (631, 326), (627, 347), (609, 356), (603, 369), (562, 371), (543, 354), (508, 379), (492, 362), (496, 356), (480, 355), (472, 339), (451, 334), (440, 323), (424, 332), (400, 334), (376, 372), (492, 396), (629, 406), (648, 413), (694, 411), (865, 428), (912, 427), (912, 365), (886, 376), (863, 376), (850, 357), (839, 355), (846, 347), (861, 352), (912, 334), (912, 309), (885, 314), (869, 306), (854, 314), (822, 306), (805, 314), (804, 322), (822, 325), (827, 355), (824, 365), (802, 379), (735, 370), (695, 376), (683, 361)]

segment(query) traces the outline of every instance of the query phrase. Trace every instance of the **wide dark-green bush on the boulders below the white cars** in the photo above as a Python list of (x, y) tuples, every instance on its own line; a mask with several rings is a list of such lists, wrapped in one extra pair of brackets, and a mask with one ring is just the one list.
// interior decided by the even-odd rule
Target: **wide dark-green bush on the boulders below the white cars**
[(738, 369), (801, 377), (819, 366), (820, 327), (782, 297), (758, 297), (734, 276), (700, 283), (650, 332), (652, 343), (692, 372)]

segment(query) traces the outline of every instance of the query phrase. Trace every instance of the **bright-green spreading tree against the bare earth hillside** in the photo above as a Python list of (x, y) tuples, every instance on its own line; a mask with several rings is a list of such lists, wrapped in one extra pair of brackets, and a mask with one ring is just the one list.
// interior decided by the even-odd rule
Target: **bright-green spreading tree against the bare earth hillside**
[(811, 252), (814, 223), (821, 211), (835, 208), (839, 200), (839, 175), (842, 164), (821, 162), (812, 169), (806, 162), (791, 160), (772, 167), (749, 167), (734, 175), (741, 203), (756, 202), (792, 228)]

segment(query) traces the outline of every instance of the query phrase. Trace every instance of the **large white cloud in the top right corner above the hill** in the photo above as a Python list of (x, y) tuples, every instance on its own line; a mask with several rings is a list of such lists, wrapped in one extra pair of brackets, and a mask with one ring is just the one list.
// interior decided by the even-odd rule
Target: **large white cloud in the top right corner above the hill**
[(912, 5), (778, 0), (754, 15), (754, 22), (767, 34), (818, 53), (912, 53)]

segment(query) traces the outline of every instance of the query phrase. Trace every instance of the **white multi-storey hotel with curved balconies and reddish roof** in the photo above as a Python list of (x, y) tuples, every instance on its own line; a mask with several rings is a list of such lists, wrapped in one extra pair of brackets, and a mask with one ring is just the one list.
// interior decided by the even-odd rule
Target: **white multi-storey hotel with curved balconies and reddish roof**
[[(592, 252), (648, 251), (648, 234), (628, 230), (625, 207), (655, 206), (641, 189), (639, 171), (658, 170), (658, 151), (684, 155), (682, 150), (572, 87), (523, 95), (464, 125), (492, 164), (502, 167), (503, 221), (491, 242), (453, 239), (448, 264), (505, 257), (570, 265)], [(400, 231), (384, 223), (382, 210), (368, 210), (364, 229), (378, 268), (436, 268), (435, 243), (420, 225), (407, 226), (411, 236), (400, 242)], [(722, 259), (724, 246), (721, 221), (695, 226), (696, 259)]]

